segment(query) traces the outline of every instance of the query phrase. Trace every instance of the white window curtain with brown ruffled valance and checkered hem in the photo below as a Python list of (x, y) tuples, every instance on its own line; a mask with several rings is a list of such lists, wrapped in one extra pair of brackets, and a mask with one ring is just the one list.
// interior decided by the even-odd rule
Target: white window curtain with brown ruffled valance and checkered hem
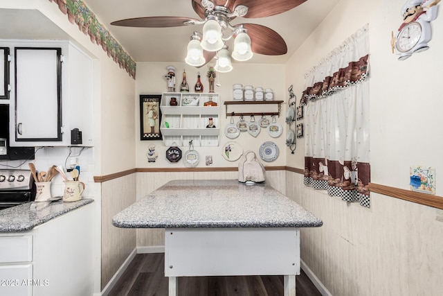
[(370, 207), (368, 25), (305, 75), (307, 186)]

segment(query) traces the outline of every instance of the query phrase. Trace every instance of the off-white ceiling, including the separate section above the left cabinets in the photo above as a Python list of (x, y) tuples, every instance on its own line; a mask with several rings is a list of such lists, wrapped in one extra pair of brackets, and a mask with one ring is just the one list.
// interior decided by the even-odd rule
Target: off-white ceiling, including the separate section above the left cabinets
[[(192, 10), (191, 0), (83, 1), (136, 62), (183, 62), (192, 32), (201, 32), (203, 28), (203, 25), (129, 28), (110, 24), (112, 21), (134, 17), (174, 16), (199, 19), (197, 13)], [(307, 0), (292, 10), (272, 17), (235, 18), (231, 24), (253, 23), (268, 26), (279, 33), (287, 43), (288, 52), (285, 55), (255, 54), (247, 62), (264, 64), (287, 62), (338, 1), (340, 0)], [(0, 27), (1, 39), (69, 39), (66, 33), (37, 10), (0, 9)], [(228, 45), (232, 48), (232, 43)]]

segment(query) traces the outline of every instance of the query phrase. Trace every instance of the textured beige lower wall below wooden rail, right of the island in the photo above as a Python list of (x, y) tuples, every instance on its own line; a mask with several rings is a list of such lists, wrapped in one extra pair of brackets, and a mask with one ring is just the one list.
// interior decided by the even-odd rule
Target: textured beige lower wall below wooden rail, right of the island
[(301, 258), (332, 295), (441, 295), (443, 210), (371, 193), (371, 209), (303, 185), (287, 195), (323, 220), (302, 229)]

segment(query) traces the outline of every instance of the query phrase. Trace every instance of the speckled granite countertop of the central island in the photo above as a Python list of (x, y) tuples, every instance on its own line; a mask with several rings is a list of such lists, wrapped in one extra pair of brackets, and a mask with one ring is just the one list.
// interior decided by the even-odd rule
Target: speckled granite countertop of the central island
[(322, 220), (266, 184), (175, 180), (114, 216), (124, 228), (320, 227)]

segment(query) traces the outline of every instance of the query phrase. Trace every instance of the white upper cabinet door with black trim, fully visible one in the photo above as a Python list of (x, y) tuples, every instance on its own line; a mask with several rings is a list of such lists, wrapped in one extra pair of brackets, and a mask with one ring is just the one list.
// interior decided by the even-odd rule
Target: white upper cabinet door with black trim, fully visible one
[(62, 141), (60, 48), (15, 48), (15, 140)]

